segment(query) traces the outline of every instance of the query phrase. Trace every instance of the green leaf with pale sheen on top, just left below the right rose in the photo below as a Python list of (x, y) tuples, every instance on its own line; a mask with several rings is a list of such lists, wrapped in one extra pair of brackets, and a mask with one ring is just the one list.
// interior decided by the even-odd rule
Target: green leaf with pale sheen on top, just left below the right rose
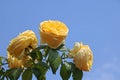
[(71, 69), (72, 66), (71, 64), (65, 62), (62, 64), (61, 69), (60, 69), (60, 76), (62, 77), (63, 80), (68, 80), (71, 75)]

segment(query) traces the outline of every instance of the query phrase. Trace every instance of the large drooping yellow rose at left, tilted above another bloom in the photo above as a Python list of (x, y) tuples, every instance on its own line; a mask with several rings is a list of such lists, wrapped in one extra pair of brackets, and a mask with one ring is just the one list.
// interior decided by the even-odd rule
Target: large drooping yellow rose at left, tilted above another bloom
[(37, 44), (38, 39), (35, 33), (32, 30), (27, 30), (11, 40), (7, 51), (11, 56), (20, 58), (26, 53), (25, 49), (31, 51), (36, 48)]

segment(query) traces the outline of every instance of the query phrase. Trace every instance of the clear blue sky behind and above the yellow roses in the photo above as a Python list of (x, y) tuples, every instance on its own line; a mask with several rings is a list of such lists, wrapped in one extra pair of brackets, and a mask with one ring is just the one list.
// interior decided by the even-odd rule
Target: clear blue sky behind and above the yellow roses
[[(94, 65), (83, 80), (119, 80), (120, 74), (120, 0), (0, 0), (0, 55), (6, 56), (9, 41), (20, 32), (44, 20), (60, 20), (69, 28), (66, 45), (88, 44)], [(47, 74), (47, 80), (61, 80)], [(72, 79), (71, 79), (72, 80)]]

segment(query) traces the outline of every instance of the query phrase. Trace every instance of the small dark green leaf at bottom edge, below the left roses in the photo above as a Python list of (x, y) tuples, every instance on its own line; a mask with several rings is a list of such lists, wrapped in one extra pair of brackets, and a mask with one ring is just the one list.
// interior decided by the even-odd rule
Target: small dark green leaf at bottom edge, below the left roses
[(32, 80), (32, 70), (27, 68), (22, 74), (22, 80)]

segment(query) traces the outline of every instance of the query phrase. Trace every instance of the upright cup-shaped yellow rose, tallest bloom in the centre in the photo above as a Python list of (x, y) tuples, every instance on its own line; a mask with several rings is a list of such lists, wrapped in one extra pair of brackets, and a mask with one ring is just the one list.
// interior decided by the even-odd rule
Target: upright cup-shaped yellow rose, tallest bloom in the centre
[(40, 23), (41, 44), (47, 43), (49, 47), (56, 49), (68, 35), (67, 26), (57, 20), (48, 20)]

